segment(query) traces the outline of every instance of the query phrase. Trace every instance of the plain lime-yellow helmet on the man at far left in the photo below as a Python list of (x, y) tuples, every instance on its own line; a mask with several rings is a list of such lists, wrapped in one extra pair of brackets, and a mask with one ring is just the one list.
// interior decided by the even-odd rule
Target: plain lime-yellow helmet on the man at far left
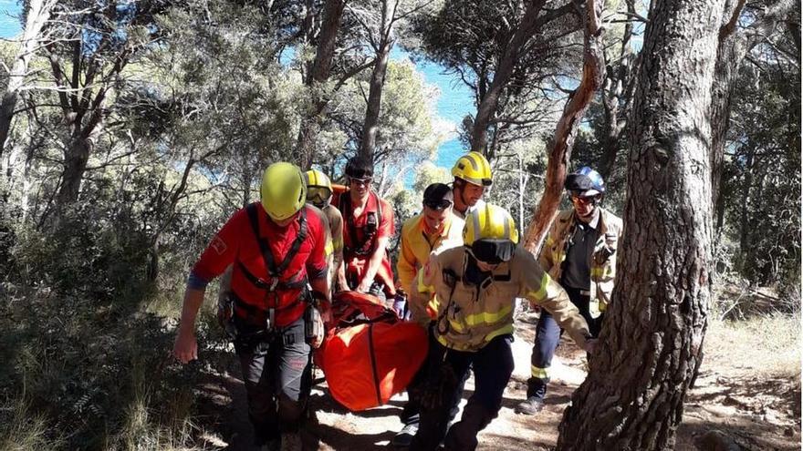
[(296, 165), (279, 161), (265, 169), (259, 193), (272, 220), (287, 220), (307, 202), (307, 180)]

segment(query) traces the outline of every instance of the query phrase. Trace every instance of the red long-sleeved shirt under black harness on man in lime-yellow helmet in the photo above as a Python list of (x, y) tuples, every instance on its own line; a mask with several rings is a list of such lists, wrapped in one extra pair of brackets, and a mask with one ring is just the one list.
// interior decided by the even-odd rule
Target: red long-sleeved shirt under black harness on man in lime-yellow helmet
[[(269, 220), (260, 202), (255, 202), (259, 220), (260, 239), (268, 243), (276, 266), (281, 264), (287, 252), (296, 240), (299, 230), (298, 220), (293, 220), (287, 227), (279, 227)], [(326, 277), (326, 222), (320, 217), (318, 210), (309, 206), (307, 210), (307, 239), (301, 242), (300, 248), (287, 265), (287, 269), (279, 274), (278, 282), (297, 282), (306, 276), (311, 279)], [(245, 209), (239, 210), (228, 220), (223, 229), (217, 232), (214, 239), (203, 251), (201, 258), (193, 266), (193, 274), (205, 281), (220, 275), (232, 263), (232, 292), (246, 304), (259, 311), (276, 309), (276, 325), (279, 327), (295, 322), (304, 313), (305, 303), (297, 302), (301, 288), (276, 290), (274, 295), (266, 289), (249, 281), (243, 272), (242, 265), (261, 281), (270, 284), (270, 277), (259, 243), (255, 240), (254, 230)], [(259, 318), (259, 321), (264, 321)]]

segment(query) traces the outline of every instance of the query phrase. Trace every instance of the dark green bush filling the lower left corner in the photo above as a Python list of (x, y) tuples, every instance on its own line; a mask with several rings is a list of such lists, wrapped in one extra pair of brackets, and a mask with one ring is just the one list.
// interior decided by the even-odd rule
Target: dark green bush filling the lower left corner
[(203, 368), (176, 364), (175, 323), (148, 313), (164, 294), (146, 281), (147, 237), (96, 214), (16, 235), (0, 287), (0, 449), (187, 449), (199, 434)]

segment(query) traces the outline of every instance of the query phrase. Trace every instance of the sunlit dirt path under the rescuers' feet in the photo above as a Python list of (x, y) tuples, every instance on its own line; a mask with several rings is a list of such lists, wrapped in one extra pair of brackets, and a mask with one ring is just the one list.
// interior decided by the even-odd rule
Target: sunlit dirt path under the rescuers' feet
[[(499, 416), (479, 436), (480, 450), (546, 450), (558, 441), (563, 411), (586, 374), (585, 356), (574, 343), (564, 340), (553, 363), (547, 407), (537, 416), (516, 415), (513, 408), (526, 395), (534, 329), (531, 323), (517, 324), (513, 345), (516, 370)], [(711, 355), (706, 356), (697, 384), (687, 398), (676, 449), (695, 449), (695, 445), (703, 449), (799, 449), (799, 380), (757, 377), (751, 371), (755, 368), (745, 368), (742, 361), (730, 358), (733, 350), (713, 346), (709, 349)], [(245, 413), (245, 388), (238, 379), (234, 359), (231, 362), (232, 375), (220, 375), (218, 380), (200, 387), (202, 398), (214, 409), (210, 413), (214, 421), (208, 444), (214, 449), (251, 451), (255, 447), (250, 445), (252, 431)], [(462, 405), (473, 391), (471, 378)], [(401, 428), (398, 415), (405, 401), (406, 395), (396, 395), (388, 405), (351, 413), (328, 396), (325, 384), (318, 384), (311, 400), (317, 415), (309, 422), (305, 445), (320, 450), (391, 448), (391, 437)], [(715, 447), (725, 445), (737, 447)]]

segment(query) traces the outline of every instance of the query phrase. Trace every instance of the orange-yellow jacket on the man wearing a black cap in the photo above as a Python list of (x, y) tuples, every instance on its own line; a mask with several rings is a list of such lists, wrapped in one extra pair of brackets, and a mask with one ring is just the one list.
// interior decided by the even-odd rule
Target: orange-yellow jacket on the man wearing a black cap
[(429, 260), (430, 255), (463, 245), (464, 220), (454, 214), (444, 224), (440, 233), (428, 234), (424, 231), (423, 214), (413, 216), (401, 226), (401, 252), (396, 262), (399, 275), (398, 286), (405, 292), (412, 289), (415, 274)]

